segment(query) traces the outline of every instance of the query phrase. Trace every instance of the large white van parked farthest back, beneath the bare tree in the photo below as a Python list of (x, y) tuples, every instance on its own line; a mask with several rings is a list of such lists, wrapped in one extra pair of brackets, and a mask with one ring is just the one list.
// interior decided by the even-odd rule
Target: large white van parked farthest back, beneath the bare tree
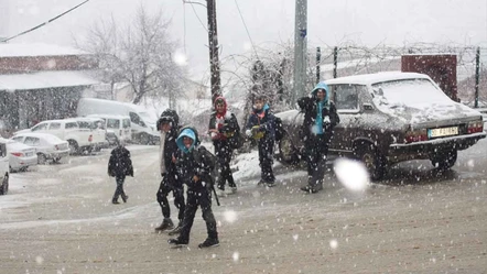
[(143, 144), (159, 143), (160, 134), (158, 129), (155, 129), (155, 118), (152, 118), (140, 106), (96, 98), (79, 99), (77, 116), (90, 114), (127, 116), (131, 122), (132, 141)]

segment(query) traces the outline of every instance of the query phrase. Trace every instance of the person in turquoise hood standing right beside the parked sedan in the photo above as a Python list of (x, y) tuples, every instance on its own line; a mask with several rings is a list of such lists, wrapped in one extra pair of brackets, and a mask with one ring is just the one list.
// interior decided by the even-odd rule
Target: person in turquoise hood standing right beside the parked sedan
[(318, 83), (310, 96), (300, 98), (297, 106), (304, 112), (302, 138), (307, 164), (307, 185), (301, 190), (317, 193), (323, 189), (329, 142), (339, 117), (325, 83)]

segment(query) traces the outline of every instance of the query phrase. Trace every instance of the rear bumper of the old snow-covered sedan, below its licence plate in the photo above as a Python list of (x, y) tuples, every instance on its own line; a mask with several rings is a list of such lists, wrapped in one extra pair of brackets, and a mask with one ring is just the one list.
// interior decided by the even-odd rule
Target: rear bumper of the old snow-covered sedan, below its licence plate
[(478, 140), (486, 138), (486, 135), (487, 134), (485, 132), (479, 132), (468, 135), (442, 138), (409, 144), (391, 144), (389, 146), (388, 157), (396, 157), (399, 161), (421, 157), (428, 158), (432, 153), (442, 149), (455, 147), (458, 151), (466, 150), (474, 145)]

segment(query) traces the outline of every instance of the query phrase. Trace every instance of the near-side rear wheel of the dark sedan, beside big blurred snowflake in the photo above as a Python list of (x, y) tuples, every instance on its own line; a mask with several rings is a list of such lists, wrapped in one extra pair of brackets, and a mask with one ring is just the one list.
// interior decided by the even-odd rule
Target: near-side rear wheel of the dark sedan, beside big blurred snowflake
[(362, 143), (356, 146), (354, 155), (364, 163), (370, 179), (379, 180), (386, 174), (386, 157), (372, 144)]

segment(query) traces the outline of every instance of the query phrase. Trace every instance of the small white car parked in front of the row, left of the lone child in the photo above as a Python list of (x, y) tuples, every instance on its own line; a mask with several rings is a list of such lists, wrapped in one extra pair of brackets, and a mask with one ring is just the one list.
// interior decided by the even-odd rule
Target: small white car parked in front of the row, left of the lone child
[(69, 155), (69, 144), (59, 138), (47, 133), (20, 133), (11, 138), (14, 141), (34, 146), (37, 152), (37, 163), (45, 164), (47, 160), (59, 162)]

